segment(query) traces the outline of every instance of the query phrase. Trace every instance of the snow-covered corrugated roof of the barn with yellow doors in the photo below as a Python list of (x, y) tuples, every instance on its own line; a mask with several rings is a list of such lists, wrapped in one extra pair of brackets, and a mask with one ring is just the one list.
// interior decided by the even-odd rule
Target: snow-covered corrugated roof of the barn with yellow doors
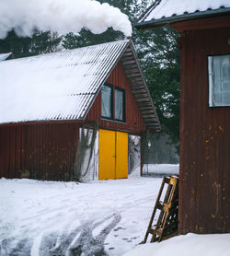
[[(139, 67), (129, 40), (0, 62), (0, 123), (84, 120), (113, 67), (121, 57), (127, 60), (125, 54), (129, 64)], [(159, 130), (155, 107), (138, 70), (152, 106), (146, 126)]]

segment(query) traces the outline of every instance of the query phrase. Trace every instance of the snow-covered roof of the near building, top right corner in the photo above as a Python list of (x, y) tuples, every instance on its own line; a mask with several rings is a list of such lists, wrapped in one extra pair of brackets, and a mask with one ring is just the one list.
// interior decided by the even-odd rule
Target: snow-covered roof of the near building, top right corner
[(196, 17), (230, 12), (229, 0), (155, 0), (139, 18), (136, 27), (163, 25)]

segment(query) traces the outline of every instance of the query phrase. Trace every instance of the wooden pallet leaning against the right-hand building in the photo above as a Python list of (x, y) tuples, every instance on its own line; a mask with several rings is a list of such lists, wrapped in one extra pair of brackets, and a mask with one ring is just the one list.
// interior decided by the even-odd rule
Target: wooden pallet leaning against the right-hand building
[[(167, 184), (167, 191), (165, 193), (164, 201), (160, 201), (162, 192)], [(159, 210), (158, 220), (155, 225), (156, 211)], [(142, 243), (145, 243), (148, 239), (148, 235), (151, 234), (152, 238), (150, 242), (164, 239), (169, 239), (178, 235), (178, 176), (164, 177), (158, 193), (155, 208), (150, 218), (150, 222)]]

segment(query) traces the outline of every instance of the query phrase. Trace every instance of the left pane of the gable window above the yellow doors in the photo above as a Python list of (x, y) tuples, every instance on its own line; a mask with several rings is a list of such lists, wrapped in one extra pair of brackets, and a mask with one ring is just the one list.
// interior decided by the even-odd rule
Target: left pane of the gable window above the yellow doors
[(103, 86), (101, 88), (101, 116), (112, 118), (111, 104), (112, 104), (112, 88)]

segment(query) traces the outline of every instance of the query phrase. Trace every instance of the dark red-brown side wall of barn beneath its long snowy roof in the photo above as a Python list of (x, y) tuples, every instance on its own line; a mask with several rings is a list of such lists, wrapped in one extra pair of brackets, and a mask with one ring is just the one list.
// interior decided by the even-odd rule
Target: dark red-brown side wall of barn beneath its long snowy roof
[(70, 180), (78, 134), (72, 123), (0, 126), (0, 177)]

